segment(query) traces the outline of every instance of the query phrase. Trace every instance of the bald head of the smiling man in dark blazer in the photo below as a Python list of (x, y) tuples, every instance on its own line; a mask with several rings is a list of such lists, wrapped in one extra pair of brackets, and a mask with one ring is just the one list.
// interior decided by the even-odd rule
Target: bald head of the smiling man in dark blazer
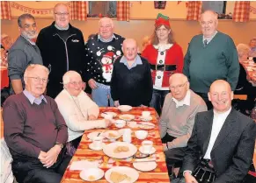
[(208, 92), (208, 100), (212, 102), (215, 111), (218, 113), (226, 112), (231, 108), (233, 96), (230, 84), (223, 80), (214, 81)]

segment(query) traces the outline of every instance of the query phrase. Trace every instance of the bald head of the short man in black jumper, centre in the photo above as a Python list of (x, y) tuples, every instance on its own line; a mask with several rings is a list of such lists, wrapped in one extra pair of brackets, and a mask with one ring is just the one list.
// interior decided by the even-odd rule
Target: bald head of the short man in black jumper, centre
[(138, 46), (135, 39), (125, 39), (122, 43), (122, 52), (128, 61), (134, 61), (138, 53)]

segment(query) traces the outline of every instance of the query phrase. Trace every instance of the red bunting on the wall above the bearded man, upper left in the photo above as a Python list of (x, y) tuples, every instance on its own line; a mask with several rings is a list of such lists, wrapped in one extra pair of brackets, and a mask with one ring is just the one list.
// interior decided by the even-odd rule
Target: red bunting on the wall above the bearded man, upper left
[[(34, 8), (26, 7), (26, 6), (21, 5), (21, 4), (17, 4), (15, 2), (10, 2), (10, 5), (11, 5), (11, 8), (14, 8), (18, 11), (23, 11), (25, 13), (30, 13), (30, 14), (33, 14), (33, 15), (52, 15), (54, 13), (54, 8), (34, 9)], [(71, 2), (69, 2), (66, 5), (69, 6), (69, 8), (71, 8)]]

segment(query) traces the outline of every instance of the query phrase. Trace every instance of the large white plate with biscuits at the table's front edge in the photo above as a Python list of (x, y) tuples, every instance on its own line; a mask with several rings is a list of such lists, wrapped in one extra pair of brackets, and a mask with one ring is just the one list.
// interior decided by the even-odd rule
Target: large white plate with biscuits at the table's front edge
[(114, 166), (105, 173), (105, 179), (110, 183), (113, 183), (113, 181), (110, 179), (111, 172), (126, 174), (130, 178), (124, 179), (121, 181), (121, 183), (133, 183), (139, 178), (139, 172), (137, 172), (134, 168), (130, 168), (128, 166)]

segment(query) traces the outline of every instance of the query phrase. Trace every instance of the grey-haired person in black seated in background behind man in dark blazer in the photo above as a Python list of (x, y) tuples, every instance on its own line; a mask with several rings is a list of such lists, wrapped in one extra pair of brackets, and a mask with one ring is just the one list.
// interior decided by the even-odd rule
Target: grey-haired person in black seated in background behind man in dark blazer
[(252, 84), (247, 80), (247, 73), (245, 67), (243, 67), (243, 61), (246, 61), (250, 53), (250, 47), (245, 44), (239, 44), (237, 46), (238, 59), (240, 65), (240, 73), (238, 77), (238, 85), (234, 91), (235, 95), (247, 95), (245, 102), (239, 102), (238, 108), (242, 113), (245, 113), (245, 109), (251, 110), (253, 108), (254, 100), (256, 97), (256, 88), (252, 87)]

